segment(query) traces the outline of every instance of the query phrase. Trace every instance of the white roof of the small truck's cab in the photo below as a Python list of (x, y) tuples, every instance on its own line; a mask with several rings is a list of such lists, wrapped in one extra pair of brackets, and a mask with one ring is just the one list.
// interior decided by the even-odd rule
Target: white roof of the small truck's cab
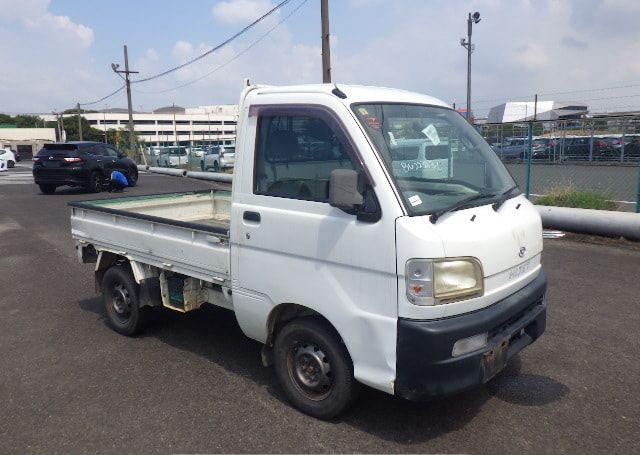
[(387, 87), (372, 87), (365, 85), (346, 85), (346, 84), (309, 84), (309, 85), (290, 85), (290, 86), (254, 86), (253, 90), (248, 94), (301, 94), (301, 93), (324, 93), (335, 96), (332, 90), (338, 87), (347, 97), (342, 101), (346, 105), (352, 103), (412, 103), (412, 104), (429, 104), (433, 106), (451, 107), (447, 103), (432, 96), (422, 93), (410, 92)]

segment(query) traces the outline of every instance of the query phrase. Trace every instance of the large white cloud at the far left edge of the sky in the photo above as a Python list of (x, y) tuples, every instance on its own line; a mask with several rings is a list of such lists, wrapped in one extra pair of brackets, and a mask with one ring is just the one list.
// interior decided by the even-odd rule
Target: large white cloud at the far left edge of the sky
[[(90, 27), (49, 11), (48, 0), (0, 0), (0, 108), (50, 111), (94, 97)], [(110, 86), (109, 86), (110, 87)]]

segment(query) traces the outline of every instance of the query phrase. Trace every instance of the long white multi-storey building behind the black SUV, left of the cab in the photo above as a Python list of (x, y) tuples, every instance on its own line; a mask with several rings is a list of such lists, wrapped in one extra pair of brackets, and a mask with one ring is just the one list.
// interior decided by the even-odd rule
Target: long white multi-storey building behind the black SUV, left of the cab
[[(75, 114), (65, 114), (74, 116)], [(92, 128), (106, 131), (127, 130), (129, 114), (126, 109), (105, 109), (83, 113)], [(55, 121), (55, 116), (44, 115)], [(198, 146), (204, 144), (229, 145), (235, 142), (237, 105), (161, 107), (152, 112), (134, 112), (133, 127), (141, 140), (149, 146)], [(123, 131), (123, 134), (125, 132)]]

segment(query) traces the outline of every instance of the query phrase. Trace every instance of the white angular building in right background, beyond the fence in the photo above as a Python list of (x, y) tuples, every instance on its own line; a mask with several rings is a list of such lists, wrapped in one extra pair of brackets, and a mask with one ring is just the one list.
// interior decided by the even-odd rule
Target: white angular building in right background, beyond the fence
[(492, 107), (487, 123), (525, 122), (533, 120), (573, 120), (584, 118), (589, 106), (564, 101), (516, 101)]

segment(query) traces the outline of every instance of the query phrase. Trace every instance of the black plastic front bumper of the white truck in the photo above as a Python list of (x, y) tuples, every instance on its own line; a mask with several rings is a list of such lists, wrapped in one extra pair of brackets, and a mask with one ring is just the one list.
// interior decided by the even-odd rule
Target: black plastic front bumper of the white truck
[[(398, 319), (395, 395), (422, 401), (484, 384), (533, 343), (546, 325), (544, 271), (509, 297), (450, 318)], [(487, 345), (453, 357), (458, 340), (487, 333)]]

